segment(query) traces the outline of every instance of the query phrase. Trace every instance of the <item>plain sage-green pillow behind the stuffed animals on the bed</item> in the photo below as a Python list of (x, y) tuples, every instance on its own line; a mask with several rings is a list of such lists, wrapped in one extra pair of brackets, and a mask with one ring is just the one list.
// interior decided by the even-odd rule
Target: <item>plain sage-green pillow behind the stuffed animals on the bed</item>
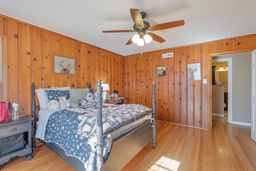
[(72, 89), (70, 89), (69, 95), (70, 95), (71, 107), (79, 108), (79, 104), (78, 104), (77, 100), (83, 99), (85, 93), (89, 93), (88, 88), (72, 88)]

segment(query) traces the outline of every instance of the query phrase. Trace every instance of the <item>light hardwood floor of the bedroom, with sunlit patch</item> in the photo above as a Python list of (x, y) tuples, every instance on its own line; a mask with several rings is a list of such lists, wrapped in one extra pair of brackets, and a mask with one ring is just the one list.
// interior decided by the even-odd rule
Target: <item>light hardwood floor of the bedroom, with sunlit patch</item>
[[(156, 149), (149, 143), (122, 171), (256, 170), (256, 143), (249, 126), (213, 120), (213, 129), (208, 131), (164, 121), (156, 124)], [(33, 159), (15, 157), (0, 170), (74, 171), (44, 145), (34, 149)]]

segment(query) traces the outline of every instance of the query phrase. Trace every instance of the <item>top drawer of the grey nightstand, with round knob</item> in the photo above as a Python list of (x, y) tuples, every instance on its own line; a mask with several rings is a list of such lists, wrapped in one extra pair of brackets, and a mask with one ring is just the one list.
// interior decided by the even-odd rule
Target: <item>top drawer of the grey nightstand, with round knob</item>
[(5, 137), (8, 135), (26, 132), (26, 131), (28, 131), (28, 128), (29, 128), (29, 123), (23, 123), (23, 124), (19, 124), (19, 125), (12, 125), (9, 127), (5, 127), (3, 129), (1, 129), (0, 137)]

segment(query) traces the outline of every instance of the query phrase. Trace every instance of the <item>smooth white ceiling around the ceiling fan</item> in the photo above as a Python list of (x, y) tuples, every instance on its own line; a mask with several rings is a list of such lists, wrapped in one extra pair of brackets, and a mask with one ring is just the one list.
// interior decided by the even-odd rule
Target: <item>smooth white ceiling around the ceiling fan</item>
[(185, 25), (152, 33), (142, 52), (256, 33), (256, 0), (0, 0), (0, 13), (123, 56), (141, 48), (126, 42), (133, 30), (130, 8), (146, 12), (151, 26), (184, 20)]

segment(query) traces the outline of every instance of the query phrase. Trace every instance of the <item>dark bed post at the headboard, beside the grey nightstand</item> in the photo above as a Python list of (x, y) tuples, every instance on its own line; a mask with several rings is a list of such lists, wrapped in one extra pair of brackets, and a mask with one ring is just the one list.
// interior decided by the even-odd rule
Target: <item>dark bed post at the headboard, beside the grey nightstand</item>
[(36, 105), (35, 105), (35, 85), (34, 83), (32, 83), (31, 86), (31, 96), (32, 96), (32, 102), (31, 102), (31, 116), (34, 118), (32, 120), (32, 147), (35, 148), (36, 147), (36, 138), (35, 138), (35, 131), (36, 131), (36, 123), (35, 123), (35, 119), (36, 119)]

